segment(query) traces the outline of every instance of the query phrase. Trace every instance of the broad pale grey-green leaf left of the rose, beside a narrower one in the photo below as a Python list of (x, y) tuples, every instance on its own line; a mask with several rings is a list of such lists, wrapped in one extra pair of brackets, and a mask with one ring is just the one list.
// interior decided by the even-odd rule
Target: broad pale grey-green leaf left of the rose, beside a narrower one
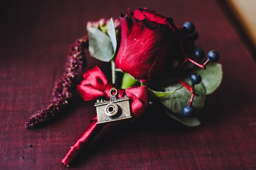
[(88, 29), (88, 35), (90, 54), (101, 61), (110, 61), (114, 54), (110, 38), (101, 30), (93, 27)]

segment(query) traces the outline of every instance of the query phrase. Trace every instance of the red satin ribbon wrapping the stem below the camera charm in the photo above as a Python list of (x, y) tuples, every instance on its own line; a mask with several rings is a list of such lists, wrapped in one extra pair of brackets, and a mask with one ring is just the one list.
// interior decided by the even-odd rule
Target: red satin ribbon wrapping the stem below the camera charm
[(88, 128), (85, 129), (83, 134), (76, 140), (74, 145), (70, 147), (70, 150), (67, 152), (66, 156), (62, 159), (62, 163), (65, 166), (70, 166), (74, 158), (81, 151), (82, 148), (86, 148), (91, 141), (94, 139), (101, 129), (106, 125), (106, 123), (97, 124), (98, 118), (97, 115), (92, 119)]

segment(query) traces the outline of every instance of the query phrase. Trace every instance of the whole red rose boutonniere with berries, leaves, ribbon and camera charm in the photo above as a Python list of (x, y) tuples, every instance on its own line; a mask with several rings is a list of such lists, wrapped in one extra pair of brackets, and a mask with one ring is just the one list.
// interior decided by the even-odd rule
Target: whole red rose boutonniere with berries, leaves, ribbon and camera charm
[[(191, 127), (200, 125), (198, 116), (205, 98), (221, 83), (222, 65), (216, 63), (220, 58), (216, 50), (209, 51), (200, 62), (205, 52), (195, 46), (198, 32), (191, 22), (177, 26), (173, 18), (138, 8), (128, 9), (116, 20), (88, 22), (87, 31), (71, 47), (51, 103), (25, 124), (34, 128), (52, 119), (72, 100), (74, 91), (84, 101), (95, 100), (95, 117), (62, 163), (69, 166), (104, 125), (135, 120), (146, 114), (145, 109), (155, 100), (171, 118)], [(97, 66), (86, 69), (86, 51), (111, 63), (111, 80)]]

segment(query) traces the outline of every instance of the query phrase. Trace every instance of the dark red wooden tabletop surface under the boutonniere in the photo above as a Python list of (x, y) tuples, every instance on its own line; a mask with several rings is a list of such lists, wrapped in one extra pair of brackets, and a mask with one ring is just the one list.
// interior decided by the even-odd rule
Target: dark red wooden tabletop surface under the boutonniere
[(117, 18), (127, 7), (155, 9), (176, 24), (193, 22), (197, 44), (219, 51), (223, 82), (207, 96), (200, 127), (185, 127), (153, 108), (134, 123), (106, 126), (74, 169), (256, 169), (256, 65), (213, 0), (1, 1), (0, 169), (68, 169), (61, 159), (94, 116), (94, 101), (74, 102), (41, 128), (28, 130), (24, 123), (48, 104), (69, 44), (85, 34), (86, 22)]

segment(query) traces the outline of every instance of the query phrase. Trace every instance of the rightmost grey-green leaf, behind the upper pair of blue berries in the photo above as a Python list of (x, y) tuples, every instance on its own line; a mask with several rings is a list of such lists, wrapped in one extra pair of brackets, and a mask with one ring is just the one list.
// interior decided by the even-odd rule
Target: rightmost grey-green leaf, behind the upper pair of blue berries
[(206, 94), (213, 93), (222, 81), (222, 65), (219, 63), (209, 63), (206, 69), (197, 68), (193, 73), (198, 73), (202, 76), (202, 84), (204, 85)]

